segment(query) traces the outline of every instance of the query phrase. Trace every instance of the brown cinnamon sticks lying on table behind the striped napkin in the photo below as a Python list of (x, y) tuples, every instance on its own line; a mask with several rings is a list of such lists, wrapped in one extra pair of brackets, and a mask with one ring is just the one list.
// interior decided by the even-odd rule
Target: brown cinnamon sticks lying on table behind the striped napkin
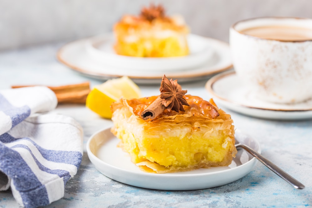
[[(11, 88), (33, 87), (35, 85), (13, 85)], [(85, 104), (85, 100), (90, 92), (89, 82), (62, 85), (62, 86), (47, 86), (56, 95), (58, 103), (76, 103)]]

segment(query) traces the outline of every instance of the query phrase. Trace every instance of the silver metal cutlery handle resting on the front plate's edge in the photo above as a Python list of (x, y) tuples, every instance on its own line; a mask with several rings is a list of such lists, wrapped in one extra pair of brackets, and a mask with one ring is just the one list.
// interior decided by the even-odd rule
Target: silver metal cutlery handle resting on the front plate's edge
[(244, 144), (238, 144), (236, 145), (236, 148), (243, 148), (248, 153), (250, 153), (253, 157), (256, 157), (260, 162), (262, 162), (266, 167), (268, 167), (271, 171), (273, 171), (276, 175), (283, 178), (285, 181), (290, 183), (292, 186), (294, 186), (297, 189), (303, 189), (305, 186), (297, 181), (295, 178), (291, 177), (288, 173), (274, 165), (271, 161), (263, 157), (261, 154), (256, 152), (255, 150), (251, 149), (250, 147), (244, 145)]

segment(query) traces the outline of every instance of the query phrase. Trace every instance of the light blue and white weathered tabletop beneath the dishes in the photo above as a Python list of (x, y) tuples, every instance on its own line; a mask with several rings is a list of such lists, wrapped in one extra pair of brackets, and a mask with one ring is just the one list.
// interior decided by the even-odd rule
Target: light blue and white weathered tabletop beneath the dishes
[[(55, 59), (61, 46), (46, 45), (0, 53), (0, 89), (11, 85), (66, 85), (90, 80)], [(209, 99), (206, 80), (182, 84), (188, 94)], [(140, 85), (144, 96), (159, 93), (159, 86)], [(98, 172), (86, 151), (77, 175), (68, 181), (65, 196), (47, 207), (311, 207), (312, 120), (273, 121), (256, 119), (230, 110), (234, 125), (256, 138), (262, 154), (306, 187), (296, 190), (260, 162), (238, 181), (195, 191), (159, 191), (128, 186)], [(56, 113), (72, 116), (84, 129), (84, 144), (91, 134), (111, 125), (82, 105), (59, 105)], [(18, 207), (11, 191), (0, 192), (0, 207)]]

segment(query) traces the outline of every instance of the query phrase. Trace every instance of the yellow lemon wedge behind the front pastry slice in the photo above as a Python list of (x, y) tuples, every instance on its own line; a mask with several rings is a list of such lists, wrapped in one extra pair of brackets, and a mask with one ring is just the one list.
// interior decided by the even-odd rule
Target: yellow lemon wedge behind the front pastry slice
[(123, 76), (107, 80), (101, 85), (94, 86), (87, 96), (85, 106), (103, 118), (112, 118), (110, 105), (120, 98), (140, 98), (141, 90), (132, 80)]

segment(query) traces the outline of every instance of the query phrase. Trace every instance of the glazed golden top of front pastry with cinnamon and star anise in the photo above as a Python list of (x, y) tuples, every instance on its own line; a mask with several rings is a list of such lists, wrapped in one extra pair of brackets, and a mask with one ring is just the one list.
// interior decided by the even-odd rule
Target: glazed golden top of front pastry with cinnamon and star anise
[[(220, 113), (216, 104), (192, 95), (185, 95), (187, 90), (182, 90), (177, 80), (168, 80), (164, 75), (160, 95), (119, 101), (119, 104), (126, 105), (137, 117), (148, 121), (162, 119), (176, 119), (176, 117), (201, 117), (202, 119), (217, 119)], [(112, 105), (112, 111), (119, 108), (118, 103)], [(223, 111), (221, 110), (223, 113)], [(227, 115), (227, 114), (224, 114)], [(222, 118), (220, 119), (228, 119)], [(226, 116), (227, 117), (227, 116)], [(219, 119), (219, 118), (218, 118)]]

